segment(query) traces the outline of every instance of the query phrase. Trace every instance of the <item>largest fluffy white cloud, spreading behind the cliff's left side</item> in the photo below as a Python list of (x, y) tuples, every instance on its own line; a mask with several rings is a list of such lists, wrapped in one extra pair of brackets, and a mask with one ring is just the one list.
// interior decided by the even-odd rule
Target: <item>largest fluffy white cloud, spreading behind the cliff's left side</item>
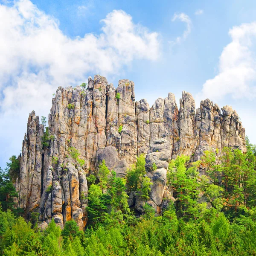
[(134, 59), (156, 60), (158, 34), (122, 10), (109, 13), (101, 33), (69, 38), (58, 20), (29, 0), (0, 5), (0, 154), (21, 145), (30, 111), (47, 116), (58, 86), (77, 85), (88, 75), (118, 74)]

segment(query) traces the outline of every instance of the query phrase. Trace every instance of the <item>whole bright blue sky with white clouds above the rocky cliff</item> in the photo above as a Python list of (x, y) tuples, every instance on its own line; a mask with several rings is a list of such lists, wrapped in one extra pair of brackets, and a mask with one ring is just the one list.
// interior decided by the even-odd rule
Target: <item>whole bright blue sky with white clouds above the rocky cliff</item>
[(237, 111), (256, 143), (256, 1), (0, 0), (0, 166), (58, 86), (100, 74), (136, 100), (183, 90)]

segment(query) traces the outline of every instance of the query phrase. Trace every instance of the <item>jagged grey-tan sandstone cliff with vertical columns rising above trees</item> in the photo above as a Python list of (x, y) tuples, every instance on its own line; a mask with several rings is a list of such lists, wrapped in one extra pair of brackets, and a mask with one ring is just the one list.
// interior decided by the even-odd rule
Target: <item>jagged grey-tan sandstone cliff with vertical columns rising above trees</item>
[[(149, 108), (145, 99), (135, 102), (132, 81), (120, 80), (115, 89), (99, 75), (88, 79), (87, 90), (58, 87), (48, 122), (46, 140), (39, 117), (34, 111), (29, 114), (15, 184), (18, 207), (27, 218), (39, 212), (41, 225), (53, 218), (63, 227), (73, 218), (81, 229), (85, 226), (86, 175), (96, 171), (102, 160), (124, 177), (144, 153), (153, 183), (148, 204), (160, 212), (166, 203), (163, 197), (172, 198), (165, 187), (172, 158), (186, 154), (199, 160), (205, 150), (221, 151), (224, 146), (246, 150), (244, 128), (230, 106), (220, 109), (206, 99), (195, 109), (192, 95), (183, 91), (180, 110), (172, 93)], [(83, 167), (79, 159), (84, 160)], [(130, 195), (128, 202), (143, 211), (139, 196)]]

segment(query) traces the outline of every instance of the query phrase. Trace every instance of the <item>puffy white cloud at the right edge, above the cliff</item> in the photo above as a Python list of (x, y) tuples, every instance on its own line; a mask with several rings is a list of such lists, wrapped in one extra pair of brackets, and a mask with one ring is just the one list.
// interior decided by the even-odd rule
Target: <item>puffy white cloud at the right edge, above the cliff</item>
[(229, 35), (232, 41), (221, 53), (218, 74), (204, 83), (200, 97), (216, 100), (230, 95), (235, 99), (254, 99), (256, 22), (234, 26)]

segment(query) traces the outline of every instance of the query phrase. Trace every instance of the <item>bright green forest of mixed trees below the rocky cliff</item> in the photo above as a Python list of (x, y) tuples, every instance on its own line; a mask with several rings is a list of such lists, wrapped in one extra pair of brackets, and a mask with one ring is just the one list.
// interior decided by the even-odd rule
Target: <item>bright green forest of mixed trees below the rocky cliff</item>
[[(12, 156), (0, 169), (0, 253), (4, 256), (251, 256), (256, 255), (256, 149), (247, 139), (247, 153), (224, 148), (205, 151), (191, 163), (178, 156), (169, 163), (162, 214), (146, 203), (150, 179), (145, 157), (137, 159), (125, 178), (116, 177), (104, 161), (97, 175), (87, 177), (85, 231), (66, 221), (38, 228), (38, 214), (26, 222), (15, 206), (13, 181), (19, 161)], [(202, 172), (204, 170), (204, 172)], [(204, 174), (202, 174), (204, 173)], [(144, 214), (128, 206), (128, 194), (144, 201)]]

